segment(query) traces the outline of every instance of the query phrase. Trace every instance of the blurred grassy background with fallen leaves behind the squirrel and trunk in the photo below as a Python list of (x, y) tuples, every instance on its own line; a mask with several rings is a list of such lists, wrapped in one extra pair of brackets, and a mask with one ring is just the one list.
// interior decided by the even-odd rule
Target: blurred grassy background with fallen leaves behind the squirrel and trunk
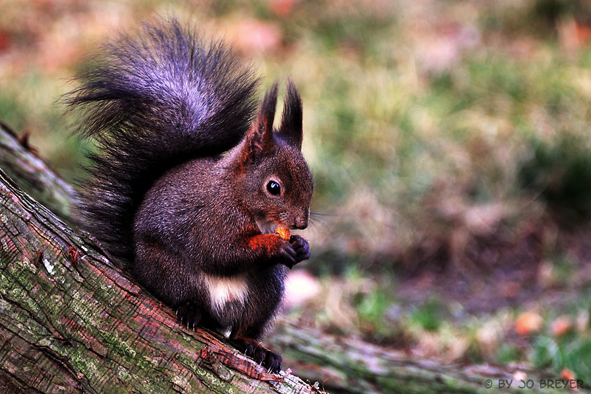
[(100, 42), (140, 21), (176, 15), (224, 36), (263, 88), (294, 79), (317, 214), (287, 319), (413, 356), (591, 381), (587, 1), (0, 9), (0, 120), (69, 181), (83, 176), (83, 147), (60, 96)]

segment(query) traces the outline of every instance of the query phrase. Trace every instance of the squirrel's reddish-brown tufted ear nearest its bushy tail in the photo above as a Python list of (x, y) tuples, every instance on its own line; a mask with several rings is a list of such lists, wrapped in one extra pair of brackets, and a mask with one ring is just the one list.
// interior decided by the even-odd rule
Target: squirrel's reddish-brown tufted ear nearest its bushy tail
[(260, 157), (273, 148), (273, 120), (275, 119), (275, 107), (277, 106), (277, 83), (265, 93), (265, 98), (259, 108), (257, 120), (248, 131), (248, 156)]

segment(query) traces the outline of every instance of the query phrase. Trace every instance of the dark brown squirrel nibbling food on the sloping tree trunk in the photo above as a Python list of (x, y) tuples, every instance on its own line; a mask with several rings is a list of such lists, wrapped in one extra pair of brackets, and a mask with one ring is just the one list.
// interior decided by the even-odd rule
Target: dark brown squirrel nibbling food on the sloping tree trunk
[(229, 332), (272, 372), (261, 346), (286, 270), (310, 256), (314, 180), (302, 156), (302, 100), (277, 83), (257, 110), (259, 79), (224, 42), (204, 44), (177, 19), (106, 44), (67, 96), (77, 133), (94, 140), (81, 213), (106, 251), (176, 310), (181, 325)]

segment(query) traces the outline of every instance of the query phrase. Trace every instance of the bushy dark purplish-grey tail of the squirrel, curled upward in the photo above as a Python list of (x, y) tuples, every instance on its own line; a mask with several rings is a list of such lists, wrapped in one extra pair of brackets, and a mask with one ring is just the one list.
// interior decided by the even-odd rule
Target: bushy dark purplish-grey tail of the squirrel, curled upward
[(79, 133), (97, 145), (81, 210), (108, 252), (129, 261), (145, 192), (165, 170), (237, 145), (258, 80), (222, 42), (205, 45), (175, 19), (107, 44), (78, 79), (66, 102), (83, 110)]

